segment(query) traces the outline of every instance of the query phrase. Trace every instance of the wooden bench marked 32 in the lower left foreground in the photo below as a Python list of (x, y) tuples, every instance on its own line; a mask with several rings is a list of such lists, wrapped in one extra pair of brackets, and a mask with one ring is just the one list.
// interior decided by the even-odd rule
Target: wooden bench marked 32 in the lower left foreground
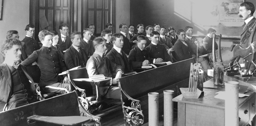
[[(76, 91), (0, 113), (0, 126), (75, 126), (90, 120), (100, 126), (100, 117), (88, 113)], [(86, 117), (80, 117), (80, 111)]]

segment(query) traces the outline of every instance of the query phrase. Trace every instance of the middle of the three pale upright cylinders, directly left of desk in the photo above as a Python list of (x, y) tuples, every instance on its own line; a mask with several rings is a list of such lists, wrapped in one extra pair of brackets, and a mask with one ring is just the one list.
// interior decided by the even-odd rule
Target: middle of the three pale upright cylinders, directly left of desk
[(173, 90), (163, 91), (163, 126), (173, 126)]

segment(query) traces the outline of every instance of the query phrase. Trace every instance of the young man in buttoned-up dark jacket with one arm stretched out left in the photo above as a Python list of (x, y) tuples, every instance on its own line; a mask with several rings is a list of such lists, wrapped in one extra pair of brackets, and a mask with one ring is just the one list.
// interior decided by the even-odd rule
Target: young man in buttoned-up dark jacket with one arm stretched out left
[(39, 40), (43, 46), (34, 51), (26, 60), (20, 64), (28, 66), (34, 62), (41, 70), (39, 86), (45, 92), (57, 92), (60, 94), (69, 93), (69, 84), (67, 75), (59, 76), (67, 68), (61, 59), (58, 50), (52, 48), (53, 34), (49, 31), (42, 30), (38, 34)]

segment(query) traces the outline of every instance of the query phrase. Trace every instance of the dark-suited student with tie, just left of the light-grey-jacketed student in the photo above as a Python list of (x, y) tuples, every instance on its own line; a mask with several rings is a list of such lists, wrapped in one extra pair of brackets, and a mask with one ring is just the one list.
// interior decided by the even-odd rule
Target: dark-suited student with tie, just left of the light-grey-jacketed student
[(67, 69), (82, 66), (85, 67), (87, 63), (87, 54), (84, 48), (80, 47), (81, 32), (73, 32), (71, 34), (72, 46), (67, 49), (64, 54), (64, 61)]

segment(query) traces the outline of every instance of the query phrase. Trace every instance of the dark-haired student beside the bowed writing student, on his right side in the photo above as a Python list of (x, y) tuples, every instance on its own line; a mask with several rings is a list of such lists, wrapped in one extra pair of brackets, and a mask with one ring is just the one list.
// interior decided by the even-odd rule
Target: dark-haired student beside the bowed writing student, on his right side
[(149, 52), (149, 56), (153, 63), (171, 62), (172, 58), (168, 55), (165, 46), (159, 44), (159, 33), (153, 31), (150, 34), (151, 43), (145, 48)]

